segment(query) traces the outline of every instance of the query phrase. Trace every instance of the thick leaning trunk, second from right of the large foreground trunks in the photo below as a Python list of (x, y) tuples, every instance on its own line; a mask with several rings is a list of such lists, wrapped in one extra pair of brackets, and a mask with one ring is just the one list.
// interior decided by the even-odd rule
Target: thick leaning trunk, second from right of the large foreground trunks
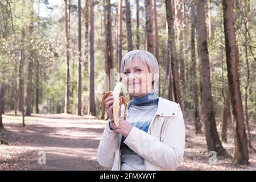
[(215, 115), (212, 100), (212, 88), (210, 82), (210, 64), (207, 47), (207, 28), (205, 23), (204, 1), (197, 0), (196, 4), (196, 32), (197, 47), (200, 60), (200, 79), (202, 85), (202, 121), (204, 122), (205, 138), (208, 151), (217, 152), (217, 156), (226, 155), (226, 151), (220, 142), (216, 128)]

